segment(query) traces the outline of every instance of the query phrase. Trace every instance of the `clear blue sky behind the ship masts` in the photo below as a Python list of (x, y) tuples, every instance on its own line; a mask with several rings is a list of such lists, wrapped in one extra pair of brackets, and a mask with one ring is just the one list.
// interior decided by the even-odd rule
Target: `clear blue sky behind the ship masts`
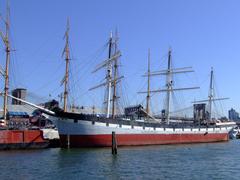
[[(104, 45), (117, 29), (121, 73), (126, 104), (142, 103), (151, 49), (151, 68), (166, 68), (172, 49), (174, 67), (192, 66), (194, 73), (179, 75), (176, 86), (200, 86), (197, 92), (180, 94), (184, 105), (206, 99), (211, 67), (225, 114), (231, 107), (240, 111), (240, 2), (238, 0), (10, 0), (11, 89), (24, 87), (39, 99), (58, 98), (63, 91), (65, 62), (62, 57), (64, 32), (70, 19), (70, 102), (101, 104), (103, 91), (88, 89), (102, 82), (104, 70), (92, 74), (107, 57)], [(0, 1), (6, 14), (6, 1)], [(0, 30), (4, 24), (0, 21)], [(105, 48), (106, 50), (106, 48)], [(0, 64), (4, 67), (4, 45), (0, 43)], [(3, 81), (2, 81), (3, 82)], [(164, 78), (153, 78), (152, 88), (164, 86)], [(3, 83), (1, 83), (3, 89)], [(154, 95), (163, 101), (158, 95)], [(160, 96), (160, 95), (159, 95)], [(180, 101), (180, 104), (182, 102)], [(153, 103), (154, 108), (157, 107)]]

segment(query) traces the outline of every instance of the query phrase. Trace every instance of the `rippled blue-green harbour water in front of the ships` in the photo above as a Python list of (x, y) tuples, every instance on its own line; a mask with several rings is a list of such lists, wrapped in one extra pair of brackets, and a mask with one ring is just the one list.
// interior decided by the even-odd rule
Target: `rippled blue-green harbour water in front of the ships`
[(0, 152), (0, 179), (239, 179), (240, 140)]

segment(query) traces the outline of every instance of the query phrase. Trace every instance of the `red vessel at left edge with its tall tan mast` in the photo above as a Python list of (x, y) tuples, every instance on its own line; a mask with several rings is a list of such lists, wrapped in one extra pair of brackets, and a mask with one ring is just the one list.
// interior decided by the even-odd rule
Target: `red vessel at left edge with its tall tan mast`
[[(3, 18), (2, 18), (3, 19)], [(8, 110), (9, 97), (9, 65), (10, 65), (10, 42), (9, 42), (9, 6), (7, 5), (7, 16), (3, 19), (6, 30), (0, 31), (0, 36), (5, 46), (6, 62), (5, 69), (0, 66), (1, 76), (4, 78), (3, 112), (0, 118), (0, 150), (5, 149), (34, 149), (46, 148), (48, 141), (43, 139), (43, 132), (33, 129), (29, 124), (29, 117), (25, 114), (13, 115)], [(21, 116), (21, 118), (20, 118)]]

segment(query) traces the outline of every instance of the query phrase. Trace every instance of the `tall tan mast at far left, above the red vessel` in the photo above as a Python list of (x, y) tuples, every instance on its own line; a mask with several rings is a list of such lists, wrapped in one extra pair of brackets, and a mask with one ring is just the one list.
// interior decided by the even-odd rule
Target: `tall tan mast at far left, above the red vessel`
[(9, 64), (10, 64), (10, 43), (9, 43), (9, 16), (10, 10), (9, 5), (7, 3), (7, 15), (6, 15), (6, 32), (5, 35), (1, 32), (1, 37), (5, 44), (5, 52), (6, 52), (6, 64), (5, 64), (5, 82), (4, 82), (4, 100), (3, 100), (3, 118), (6, 120), (7, 118), (7, 104), (8, 104), (8, 90), (9, 90)]

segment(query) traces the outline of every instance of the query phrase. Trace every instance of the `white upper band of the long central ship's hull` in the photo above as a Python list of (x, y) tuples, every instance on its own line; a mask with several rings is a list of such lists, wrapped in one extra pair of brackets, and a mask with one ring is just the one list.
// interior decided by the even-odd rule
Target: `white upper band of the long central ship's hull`
[(74, 123), (72, 119), (59, 119), (58, 131), (60, 135), (101, 135), (112, 134), (219, 134), (228, 133), (232, 127), (222, 128), (152, 128), (142, 126), (107, 124), (102, 122), (79, 120)]

